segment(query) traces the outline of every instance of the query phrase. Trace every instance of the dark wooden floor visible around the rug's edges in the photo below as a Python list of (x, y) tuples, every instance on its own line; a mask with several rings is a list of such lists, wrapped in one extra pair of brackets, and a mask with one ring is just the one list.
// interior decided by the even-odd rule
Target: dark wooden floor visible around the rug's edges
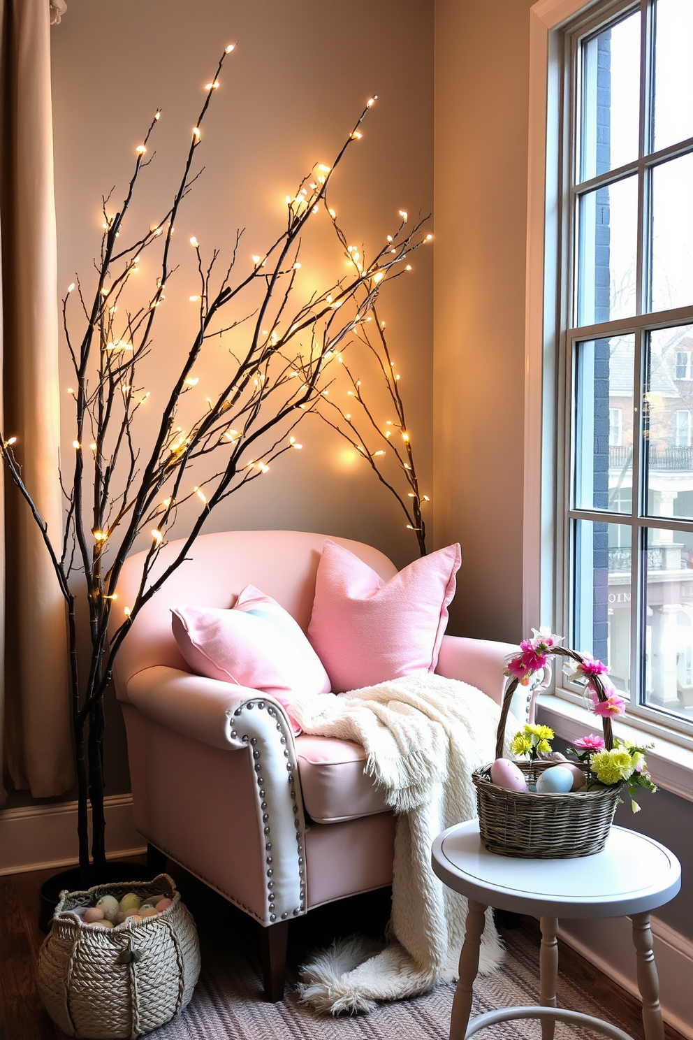
[[(44, 940), (36, 924), (37, 892), (39, 885), (54, 873), (37, 870), (0, 877), (0, 1040), (63, 1040), (64, 1037), (44, 1010), (34, 984), (36, 958)], [(179, 887), (182, 880), (177, 877)], [(198, 884), (194, 879), (191, 881)], [(538, 924), (523, 918), (522, 927), (538, 946)], [(569, 966), (576, 982), (602, 1004), (605, 1018), (609, 1018), (609, 1009), (617, 1010), (629, 1032), (640, 1040), (643, 1033), (638, 1003), (569, 946), (559, 945), (563, 966)], [(667, 1040), (684, 1040), (669, 1026), (665, 1026), (665, 1033)]]

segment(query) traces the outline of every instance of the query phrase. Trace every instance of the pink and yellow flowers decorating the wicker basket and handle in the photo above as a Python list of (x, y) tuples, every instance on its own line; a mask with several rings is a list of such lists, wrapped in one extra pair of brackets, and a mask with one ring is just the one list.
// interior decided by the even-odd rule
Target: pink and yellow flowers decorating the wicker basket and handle
[[(596, 784), (606, 787), (627, 784), (632, 809), (639, 812), (640, 806), (635, 801), (638, 787), (651, 792), (657, 790), (647, 772), (645, 759), (652, 745), (641, 747), (614, 738), (611, 720), (624, 714), (625, 701), (605, 678), (608, 674), (607, 666), (589, 654), (578, 654), (575, 650), (559, 646), (558, 636), (552, 635), (547, 629), (533, 629), (533, 632), (534, 638), (524, 640), (519, 645), (521, 652), (508, 660), (505, 674), (515, 685), (527, 685), (531, 676), (547, 666), (551, 654), (560, 654), (570, 659), (571, 665), (566, 661), (564, 671), (571, 681), (585, 681), (592, 710), (602, 719), (605, 735), (589, 733), (574, 740), (568, 754), (586, 769), (587, 789)], [(554, 731), (549, 726), (528, 725), (515, 733), (510, 747), (513, 755), (536, 761), (541, 756), (552, 754), (550, 742), (553, 738)], [(557, 759), (557, 764), (559, 763), (560, 758)]]

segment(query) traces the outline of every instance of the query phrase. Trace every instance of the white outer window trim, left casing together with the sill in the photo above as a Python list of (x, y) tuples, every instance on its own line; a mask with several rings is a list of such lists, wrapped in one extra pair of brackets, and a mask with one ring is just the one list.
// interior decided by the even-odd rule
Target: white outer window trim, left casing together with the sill
[[(562, 499), (565, 457), (565, 380), (559, 379), (559, 340), (567, 328), (565, 281), (559, 280), (559, 256), (566, 250), (562, 226), (564, 170), (558, 168), (563, 119), (568, 100), (564, 90), (563, 29), (578, 16), (601, 18), (609, 8), (599, 0), (538, 0), (530, 9), (530, 106), (528, 156), (528, 212), (525, 324), (525, 479), (523, 540), (523, 629), (539, 624), (554, 626), (557, 603), (562, 600), (564, 575), (555, 561), (564, 558), (562, 522), (556, 503)], [(634, 5), (635, 6), (635, 5)], [(593, 14), (593, 11), (592, 11)], [(564, 156), (564, 163), (568, 156)], [(670, 312), (670, 316), (674, 312)], [(682, 317), (688, 314), (683, 311)], [(561, 685), (542, 698), (547, 721), (562, 721), (562, 735), (574, 738), (593, 726), (584, 698)], [(642, 716), (617, 724), (623, 735), (645, 730), (656, 739), (654, 775), (670, 790), (693, 801), (693, 738), (689, 733)], [(560, 731), (560, 727), (559, 727)], [(691, 749), (691, 750), (688, 750)]]

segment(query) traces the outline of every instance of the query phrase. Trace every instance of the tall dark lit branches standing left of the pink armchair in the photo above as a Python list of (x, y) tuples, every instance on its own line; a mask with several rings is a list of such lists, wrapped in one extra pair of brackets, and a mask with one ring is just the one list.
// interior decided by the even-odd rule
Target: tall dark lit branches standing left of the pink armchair
[[(152, 161), (146, 156), (160, 121), (157, 110), (142, 144), (135, 149), (134, 170), (119, 209), (110, 213), (110, 199), (103, 200), (96, 285), (87, 292), (77, 279), (62, 300), (63, 333), (75, 379), (68, 392), (74, 399), (76, 436), (71, 477), (65, 477), (64, 466), (58, 467), (66, 502), (59, 536), (48, 530), (24, 482), (21, 444), (14, 437), (5, 440), (2, 436), (0, 440), (9, 475), (39, 527), (66, 603), (79, 858), (85, 882), (90, 865), (87, 801), (92, 813), (92, 863), (97, 870), (105, 865), (103, 697), (130, 626), (185, 561), (212, 511), (268, 473), (281, 456), (301, 447), (295, 427), (325, 399), (330, 365), (349, 337), (367, 321), (382, 284), (396, 277), (404, 268), (407, 253), (425, 241), (420, 224), (409, 233), (400, 226), (368, 267), (352, 267), (347, 277), (323, 290), (298, 295), (302, 236), (310, 232), (321, 204), (326, 204), (335, 170), (362, 136), (359, 127), (375, 100), (371, 98), (331, 166), (316, 165), (296, 192), (287, 196), (286, 226), (268, 250), (254, 255), (244, 265), (238, 233), (228, 265), (219, 271), (220, 251), (206, 257), (197, 238), (190, 239), (197, 271), (195, 291), (188, 297), (195, 306), (194, 319), (178, 370), (170, 362), (172, 352), (166, 352), (166, 362), (175, 372), (166, 389), (154, 331), (177, 270), (175, 224), (199, 176), (193, 167), (205, 116), (220, 86), (224, 60), (233, 50), (234, 45), (225, 48), (205, 87), (183, 172), (166, 211), (148, 230), (134, 234), (129, 244), (123, 243), (129, 233), (126, 218), (133, 198), (142, 172)], [(332, 213), (330, 217), (334, 219)], [(149, 257), (156, 259), (158, 277), (144, 302), (131, 306), (133, 293), (141, 301), (133, 277), (142, 258)], [(78, 333), (75, 298), (80, 312)], [(201, 363), (209, 354), (206, 348), (210, 342), (225, 345), (228, 341), (233, 348), (225, 350), (222, 360), (218, 352), (214, 355), (218, 385), (201, 402), (201, 391), (195, 388), (201, 379), (197, 372), (203, 371)], [(146, 373), (148, 364), (156, 366), (154, 393), (142, 385), (145, 374), (141, 373)], [(151, 410), (155, 401), (159, 402), (155, 433), (148, 440), (142, 436), (139, 413)], [(182, 548), (164, 568), (154, 572), (179, 515), (180, 523), (185, 524)], [(140, 536), (149, 540), (149, 549), (138, 592), (133, 602), (118, 603), (121, 571)], [(79, 583), (77, 574), (83, 579)], [(84, 671), (80, 670), (78, 653), (81, 598), (88, 607), (90, 640)]]

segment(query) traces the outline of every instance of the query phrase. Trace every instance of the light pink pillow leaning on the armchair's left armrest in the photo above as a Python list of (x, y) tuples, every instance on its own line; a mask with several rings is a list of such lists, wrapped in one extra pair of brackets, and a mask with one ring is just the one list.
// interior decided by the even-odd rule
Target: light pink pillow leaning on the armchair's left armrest
[(300, 625), (252, 586), (231, 610), (174, 606), (170, 613), (178, 647), (198, 675), (260, 690), (285, 707), (296, 694), (329, 693), (327, 673)]

